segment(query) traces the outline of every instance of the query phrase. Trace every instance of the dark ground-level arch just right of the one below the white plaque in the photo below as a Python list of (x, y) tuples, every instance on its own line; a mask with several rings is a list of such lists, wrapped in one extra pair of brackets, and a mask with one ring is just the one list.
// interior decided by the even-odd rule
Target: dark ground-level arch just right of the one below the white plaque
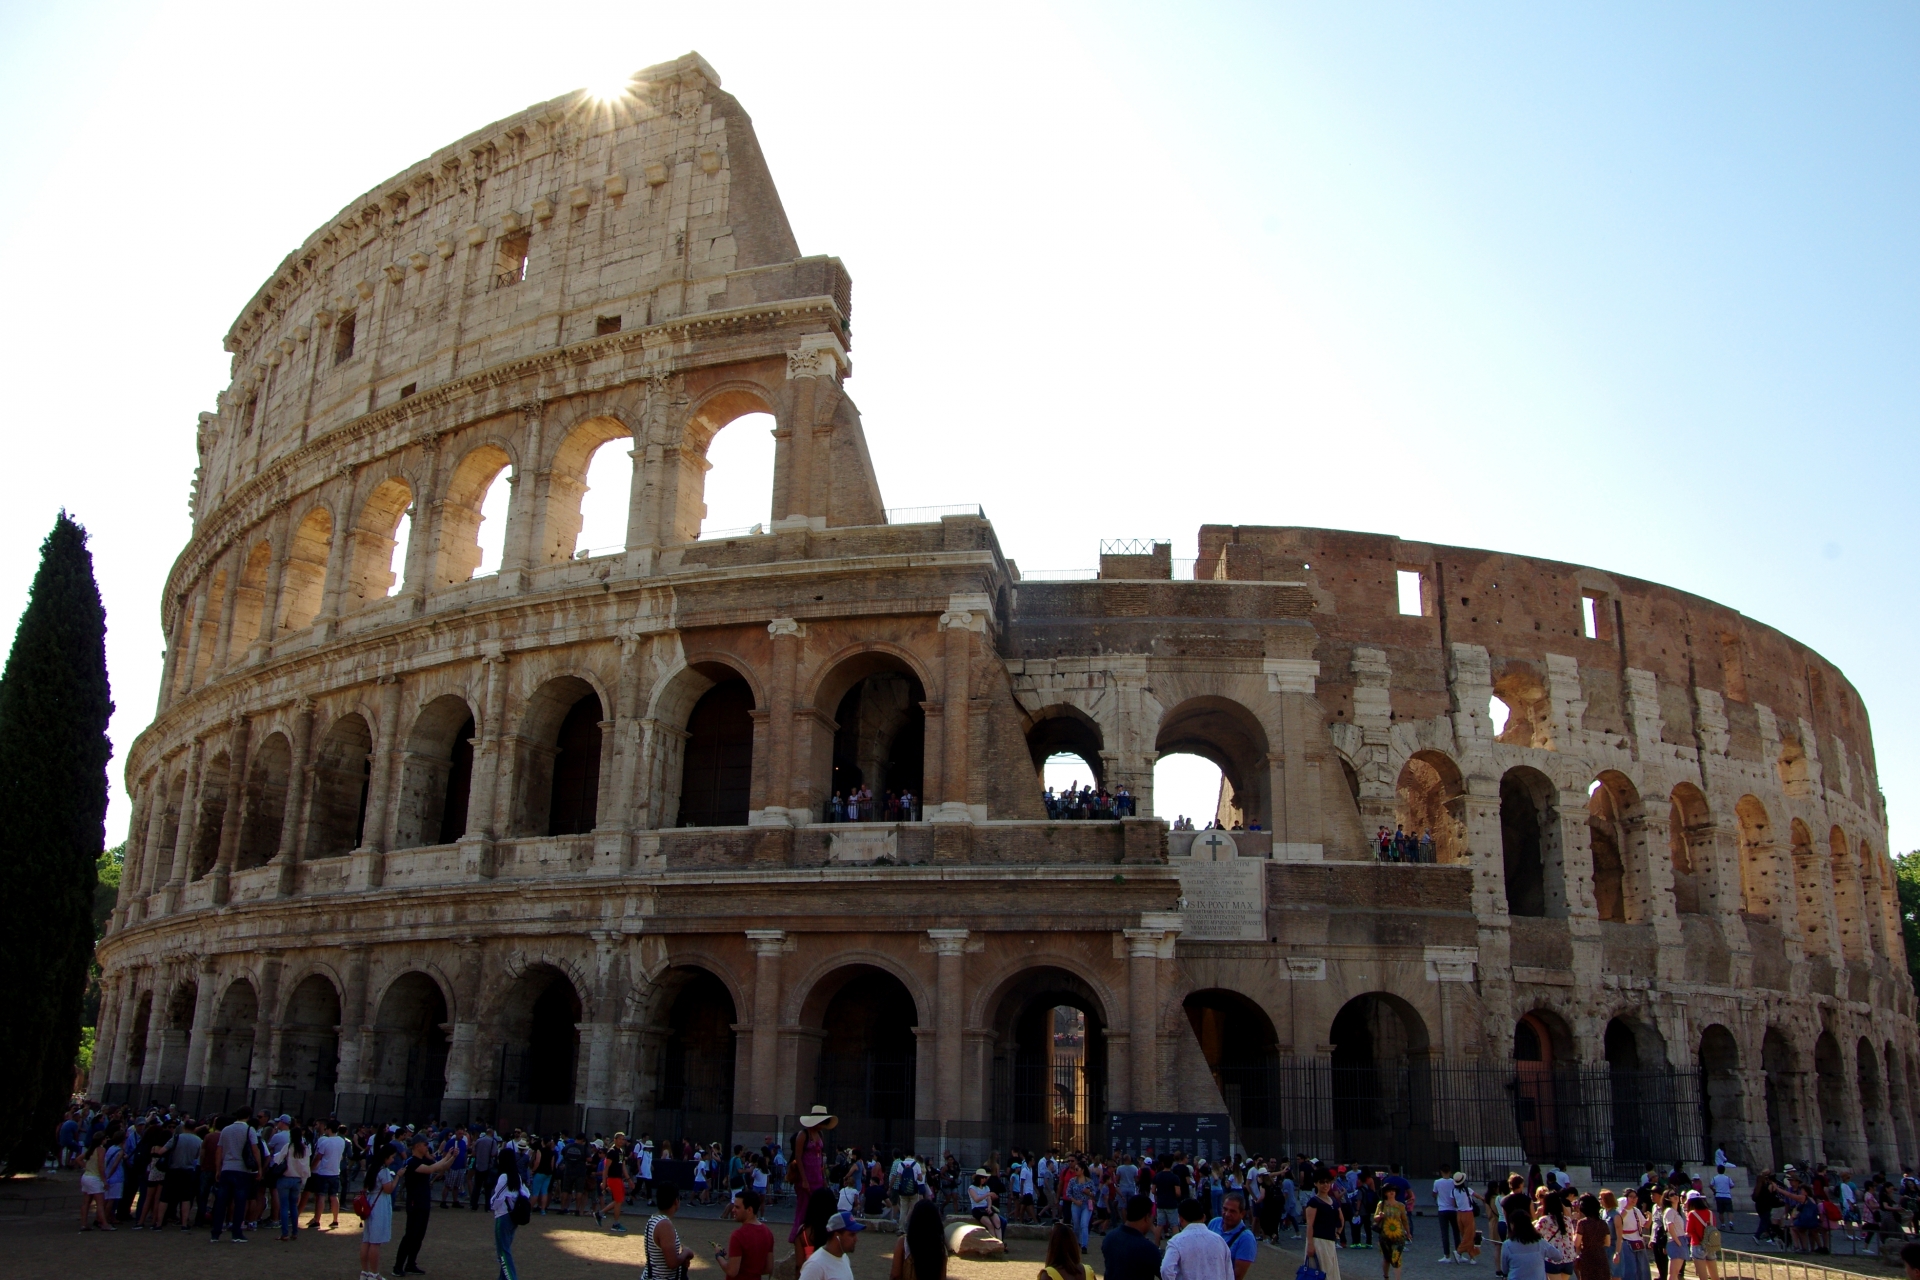
[(1386, 992), (1354, 996), (1332, 1019), (1334, 1150), (1361, 1163), (1432, 1169), (1427, 1023), (1411, 1004)]

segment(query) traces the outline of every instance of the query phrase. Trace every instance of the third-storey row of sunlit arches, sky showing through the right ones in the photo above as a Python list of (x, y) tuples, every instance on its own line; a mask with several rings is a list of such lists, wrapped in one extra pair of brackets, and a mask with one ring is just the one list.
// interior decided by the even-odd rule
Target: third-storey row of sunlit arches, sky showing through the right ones
[[(689, 432), (699, 436), (687, 472), (693, 493), (684, 503), (691, 514), (682, 516), (676, 541), (701, 533), (710, 507), (707, 455), (733, 422), (745, 430), (730, 434), (730, 443), (737, 438), (743, 447), (726, 449), (737, 484), (716, 495), (724, 499), (718, 524), (764, 510), (772, 436), (758, 428), (772, 426), (770, 413), (764, 397), (739, 388), (701, 409), (703, 430)], [(363, 478), (348, 493), (317, 495), (284, 530), (246, 539), (188, 591), (169, 645), (165, 697), (202, 687), (323, 616), (344, 618), (399, 593), (424, 599), (503, 568), (624, 549), (639, 470), (622, 416), (595, 415), (561, 432), (520, 491), (528, 449), (545, 453), (538, 436), (482, 430), (445, 464), (428, 457)]]

